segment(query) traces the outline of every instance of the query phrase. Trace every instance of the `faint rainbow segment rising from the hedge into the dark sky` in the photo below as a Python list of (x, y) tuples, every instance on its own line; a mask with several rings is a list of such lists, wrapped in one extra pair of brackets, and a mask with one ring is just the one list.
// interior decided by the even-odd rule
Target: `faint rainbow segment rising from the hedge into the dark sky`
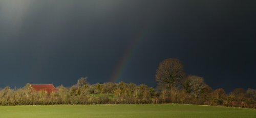
[(117, 63), (113, 71), (113, 74), (110, 78), (110, 82), (114, 82), (114, 83), (120, 82), (121, 76), (124, 72), (126, 65), (129, 63), (135, 50), (138, 48), (140, 42), (142, 42), (142, 40), (145, 37), (145, 34), (147, 32), (147, 30), (145, 29), (147, 28), (142, 28), (141, 32), (139, 32), (138, 35), (131, 41), (131, 44), (127, 46), (127, 49), (124, 51), (121, 60)]

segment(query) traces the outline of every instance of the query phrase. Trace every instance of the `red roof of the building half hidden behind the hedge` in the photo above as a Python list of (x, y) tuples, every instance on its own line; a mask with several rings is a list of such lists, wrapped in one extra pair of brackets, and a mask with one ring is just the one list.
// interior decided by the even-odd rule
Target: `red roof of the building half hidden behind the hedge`
[(36, 91), (45, 90), (47, 93), (52, 93), (57, 90), (53, 84), (31, 84), (31, 87)]

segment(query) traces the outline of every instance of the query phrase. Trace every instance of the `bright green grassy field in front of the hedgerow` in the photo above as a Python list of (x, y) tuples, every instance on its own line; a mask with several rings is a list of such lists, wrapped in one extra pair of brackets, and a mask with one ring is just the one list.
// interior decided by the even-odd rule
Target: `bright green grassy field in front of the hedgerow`
[(183, 104), (0, 106), (0, 117), (256, 117), (256, 110)]

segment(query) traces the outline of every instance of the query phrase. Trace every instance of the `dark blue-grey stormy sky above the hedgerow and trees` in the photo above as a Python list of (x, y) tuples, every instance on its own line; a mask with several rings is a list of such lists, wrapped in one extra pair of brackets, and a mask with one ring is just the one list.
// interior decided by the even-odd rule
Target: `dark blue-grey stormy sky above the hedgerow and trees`
[[(256, 1), (0, 1), (0, 87), (118, 81), (156, 86), (178, 58), (212, 88), (256, 88)], [(128, 53), (128, 54), (126, 54)]]

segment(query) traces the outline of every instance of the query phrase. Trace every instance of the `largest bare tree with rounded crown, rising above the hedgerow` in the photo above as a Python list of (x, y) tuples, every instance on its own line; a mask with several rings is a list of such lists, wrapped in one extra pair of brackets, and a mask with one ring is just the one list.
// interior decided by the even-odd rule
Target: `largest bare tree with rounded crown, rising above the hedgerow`
[(156, 81), (160, 89), (176, 88), (184, 77), (183, 64), (179, 59), (169, 58), (163, 60), (156, 71)]

